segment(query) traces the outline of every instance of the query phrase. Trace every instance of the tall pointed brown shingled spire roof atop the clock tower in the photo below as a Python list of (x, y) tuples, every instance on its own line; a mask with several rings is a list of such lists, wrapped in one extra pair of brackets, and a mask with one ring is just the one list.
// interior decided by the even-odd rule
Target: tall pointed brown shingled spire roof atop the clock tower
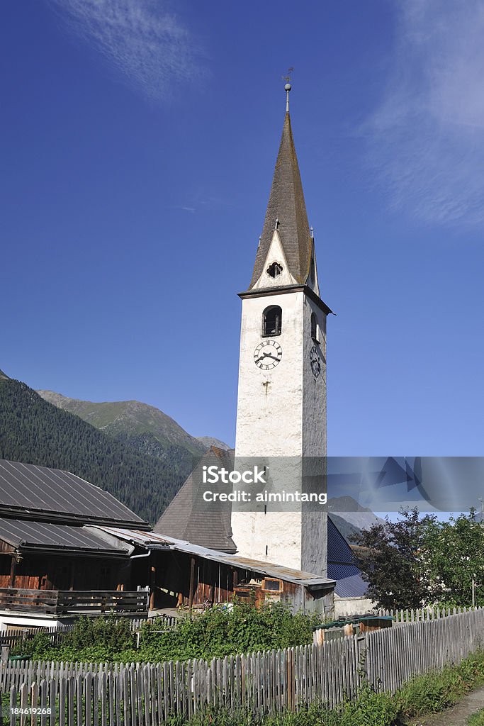
[(279, 232), (292, 277), (300, 285), (305, 285), (311, 264), (313, 240), (309, 231), (303, 184), (301, 183), (288, 111), (284, 118), (281, 145), (277, 155), (276, 168), (274, 169), (266, 220), (264, 221), (261, 243), (257, 250), (249, 289), (254, 287), (263, 273), (274, 229)]

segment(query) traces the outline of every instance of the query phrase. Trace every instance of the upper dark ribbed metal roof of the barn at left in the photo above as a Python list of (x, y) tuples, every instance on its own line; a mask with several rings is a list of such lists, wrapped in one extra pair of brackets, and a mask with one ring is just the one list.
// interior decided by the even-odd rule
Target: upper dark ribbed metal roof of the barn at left
[(68, 471), (0, 460), (0, 515), (147, 526), (118, 499)]

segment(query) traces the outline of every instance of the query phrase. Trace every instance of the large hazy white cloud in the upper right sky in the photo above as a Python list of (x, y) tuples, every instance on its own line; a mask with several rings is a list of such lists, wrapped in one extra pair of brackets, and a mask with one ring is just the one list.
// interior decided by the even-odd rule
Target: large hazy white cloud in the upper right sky
[(484, 222), (484, 0), (400, 0), (369, 158), (391, 203), (430, 222)]

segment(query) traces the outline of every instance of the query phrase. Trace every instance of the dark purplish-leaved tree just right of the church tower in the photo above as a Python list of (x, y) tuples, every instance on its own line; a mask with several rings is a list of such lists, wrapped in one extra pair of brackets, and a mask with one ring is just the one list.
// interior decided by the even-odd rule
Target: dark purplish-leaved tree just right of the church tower
[(400, 516), (397, 522), (387, 517), (355, 537), (361, 547), (358, 566), (368, 582), (368, 597), (381, 608), (420, 608), (439, 594), (422, 556), (425, 533), (435, 518), (421, 517), (417, 508), (401, 510)]

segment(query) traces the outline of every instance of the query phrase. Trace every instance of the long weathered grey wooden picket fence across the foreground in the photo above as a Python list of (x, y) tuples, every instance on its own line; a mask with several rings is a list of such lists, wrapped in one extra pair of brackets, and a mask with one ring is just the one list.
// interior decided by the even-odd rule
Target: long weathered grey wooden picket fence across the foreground
[[(9, 726), (157, 726), (200, 709), (270, 714), (355, 698), (361, 678), (394, 693), (412, 676), (459, 664), (483, 646), (484, 610), (247, 656), (162, 664), (5, 664)], [(23, 713), (16, 713), (22, 711)], [(37, 713), (28, 713), (38, 709)], [(50, 709), (50, 712), (49, 712)]]

